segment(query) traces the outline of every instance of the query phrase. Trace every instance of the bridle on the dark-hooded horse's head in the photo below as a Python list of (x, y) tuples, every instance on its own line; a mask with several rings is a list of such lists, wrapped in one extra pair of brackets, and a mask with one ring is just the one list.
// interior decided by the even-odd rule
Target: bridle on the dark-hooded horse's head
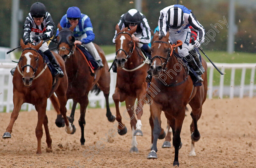
[[(68, 31), (68, 32), (71, 32), (71, 33), (73, 34), (73, 32), (72, 32), (70, 29), (62, 29), (62, 30), (59, 31), (59, 33), (64, 32), (64, 31)], [(69, 54), (62, 56), (62, 58), (65, 60), (66, 58), (69, 58), (71, 55), (74, 54), (74, 50), (76, 49), (76, 47), (74, 47), (74, 49), (72, 50), (73, 46), (75, 46), (75, 45), (74, 45), (74, 43), (69, 43), (68, 38), (69, 38), (70, 36), (67, 36), (65, 40), (63, 40), (63, 39), (61, 38), (61, 36), (59, 36), (59, 37), (60, 37), (60, 39), (59, 39), (59, 42), (58, 42), (58, 45), (57, 45), (58, 54), (59, 54), (59, 51), (66, 51), (66, 50), (69, 51)], [(67, 44), (69, 45), (69, 48), (66, 48), (66, 47), (59, 47), (59, 44), (60, 44), (62, 41), (65, 42), (65, 43), (67, 42)]]

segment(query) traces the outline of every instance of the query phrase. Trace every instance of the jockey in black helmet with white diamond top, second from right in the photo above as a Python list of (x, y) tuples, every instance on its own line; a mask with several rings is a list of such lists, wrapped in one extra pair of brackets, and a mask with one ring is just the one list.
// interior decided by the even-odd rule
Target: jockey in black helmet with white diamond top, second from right
[[(120, 30), (125, 27), (129, 27), (131, 30), (134, 26), (138, 25), (136, 31), (132, 34), (133, 41), (137, 42), (137, 46), (143, 49), (148, 54), (149, 59), (151, 59), (151, 50), (148, 46), (151, 39), (151, 33), (146, 17), (136, 9), (130, 9), (121, 16), (118, 25)], [(116, 36), (117, 31), (115, 32), (113, 43), (115, 43)], [(116, 64), (114, 62), (112, 65), (113, 72), (116, 72), (116, 69)]]

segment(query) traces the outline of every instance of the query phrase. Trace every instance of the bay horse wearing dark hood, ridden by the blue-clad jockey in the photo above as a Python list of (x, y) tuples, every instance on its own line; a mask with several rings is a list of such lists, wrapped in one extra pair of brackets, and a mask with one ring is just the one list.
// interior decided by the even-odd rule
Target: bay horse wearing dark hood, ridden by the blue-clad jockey
[[(57, 36), (57, 51), (65, 61), (65, 68), (69, 81), (67, 89), (67, 100), (73, 99), (73, 106), (69, 116), (69, 121), (73, 123), (76, 104), (80, 103), (80, 118), (78, 122), (81, 128), (80, 142), (81, 145), (84, 145), (85, 112), (89, 103), (88, 93), (90, 90), (93, 89), (98, 93), (100, 90), (103, 91), (106, 100), (106, 116), (108, 121), (114, 122), (116, 120), (116, 117), (113, 116), (110, 111), (108, 103), (110, 90), (110, 73), (108, 72), (108, 63), (106, 61), (103, 50), (97, 44), (94, 44), (101, 57), (104, 67), (96, 70), (93, 76), (93, 72), (90, 71), (88, 62), (76, 47), (76, 45), (74, 45), (75, 37), (73, 36), (73, 29), (75, 26), (71, 26), (70, 28), (62, 28), (59, 23), (58, 28), (59, 34)], [(60, 117), (61, 116), (58, 115), (57, 119)], [(61, 123), (55, 123), (58, 127), (62, 126)]]

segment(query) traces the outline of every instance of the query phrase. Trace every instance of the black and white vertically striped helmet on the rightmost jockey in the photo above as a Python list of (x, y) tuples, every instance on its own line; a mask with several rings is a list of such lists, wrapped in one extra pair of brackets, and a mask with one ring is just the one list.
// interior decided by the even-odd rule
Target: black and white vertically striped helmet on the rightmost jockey
[(184, 23), (184, 15), (179, 7), (172, 7), (166, 15), (166, 22), (171, 29), (179, 29)]

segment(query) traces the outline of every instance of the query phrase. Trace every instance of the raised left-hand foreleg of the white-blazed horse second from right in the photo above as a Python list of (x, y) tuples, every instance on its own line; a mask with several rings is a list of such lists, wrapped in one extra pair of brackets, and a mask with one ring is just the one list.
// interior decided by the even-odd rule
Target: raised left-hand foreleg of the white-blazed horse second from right
[(119, 111), (119, 102), (122, 100), (124, 101), (124, 97), (125, 97), (124, 93), (121, 93), (120, 89), (116, 87), (115, 93), (112, 95), (112, 98), (113, 98), (113, 100), (115, 102), (115, 106), (116, 106), (116, 121), (118, 122), (116, 124), (118, 124), (117, 128), (118, 128), (119, 135), (125, 135), (127, 132), (127, 128), (126, 128), (125, 124), (122, 123), (122, 116)]

